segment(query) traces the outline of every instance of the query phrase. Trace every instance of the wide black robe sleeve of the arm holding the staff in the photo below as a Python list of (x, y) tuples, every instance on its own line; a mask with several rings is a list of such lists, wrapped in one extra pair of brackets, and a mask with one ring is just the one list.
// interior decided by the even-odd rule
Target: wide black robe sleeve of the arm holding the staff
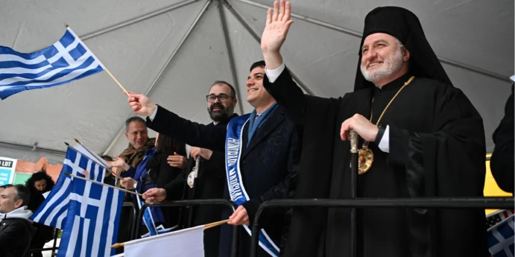
[(483, 196), (483, 119), (460, 89), (438, 99), (431, 133), (390, 126), (390, 164), (405, 167), (410, 197)]

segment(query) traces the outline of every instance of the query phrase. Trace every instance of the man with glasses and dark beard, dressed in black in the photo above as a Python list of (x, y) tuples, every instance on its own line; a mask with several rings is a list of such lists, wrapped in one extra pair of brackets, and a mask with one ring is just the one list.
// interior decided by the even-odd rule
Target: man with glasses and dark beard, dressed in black
[[(205, 99), (208, 102), (208, 113), (213, 122), (206, 127), (226, 127), (230, 119), (237, 117), (234, 113), (236, 107), (236, 91), (226, 81), (215, 81)], [(168, 162), (175, 156), (169, 156)], [(197, 178), (194, 180), (194, 168), (197, 158), (200, 158)], [(195, 181), (195, 183), (193, 183)], [(174, 195), (182, 195), (183, 199), (220, 199), (224, 197), (225, 185), (225, 152), (212, 151), (205, 148), (192, 146), (190, 156), (187, 159), (186, 168), (180, 176), (170, 181), (163, 188), (147, 191), (155, 195), (154, 201), (173, 198)], [(149, 200), (147, 199), (147, 202)], [(153, 203), (153, 201), (152, 201)], [(202, 205), (181, 208), (179, 229), (195, 227), (202, 224), (217, 222), (220, 220), (224, 206)], [(204, 231), (204, 256), (217, 256), (220, 242), (220, 227), (214, 227)]]

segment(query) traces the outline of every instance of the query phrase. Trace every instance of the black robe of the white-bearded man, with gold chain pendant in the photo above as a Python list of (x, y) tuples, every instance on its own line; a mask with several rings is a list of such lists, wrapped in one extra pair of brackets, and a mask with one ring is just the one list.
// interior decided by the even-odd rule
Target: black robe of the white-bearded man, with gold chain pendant
[[(375, 124), (409, 79), (338, 99), (305, 96), (284, 69), (264, 86), (303, 126), (295, 198), (350, 198), (350, 143), (341, 123), (355, 114)], [(381, 124), (389, 153), (371, 142), (371, 169), (357, 179), (358, 197), (480, 197), (485, 179), (483, 120), (460, 89), (415, 78)], [(386, 139), (385, 139), (386, 140)], [(360, 143), (361, 146), (361, 143)], [(358, 256), (487, 256), (484, 210), (358, 209)], [(350, 209), (295, 208), (284, 256), (350, 256)]]

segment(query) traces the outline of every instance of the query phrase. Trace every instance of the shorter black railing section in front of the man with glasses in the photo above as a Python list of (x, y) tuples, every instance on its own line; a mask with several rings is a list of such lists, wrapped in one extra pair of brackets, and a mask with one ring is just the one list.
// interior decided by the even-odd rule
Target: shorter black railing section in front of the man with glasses
[[(231, 209), (235, 209), (236, 205), (227, 199), (199, 199), (199, 200), (180, 200), (180, 201), (163, 201), (155, 204), (144, 204), (139, 210), (138, 219), (135, 221), (135, 232), (132, 240), (140, 234), (140, 224), (143, 220), (143, 213), (148, 207), (179, 207), (179, 206), (197, 206), (197, 205), (226, 205)], [(238, 226), (234, 226), (232, 232), (231, 257), (236, 257), (238, 243)]]

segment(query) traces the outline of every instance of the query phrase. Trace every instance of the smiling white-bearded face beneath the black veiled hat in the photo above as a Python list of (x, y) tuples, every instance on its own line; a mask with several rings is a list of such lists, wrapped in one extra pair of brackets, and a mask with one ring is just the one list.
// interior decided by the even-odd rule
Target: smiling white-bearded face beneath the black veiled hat
[(374, 33), (363, 42), (361, 72), (366, 80), (382, 86), (404, 75), (409, 52), (393, 36)]

